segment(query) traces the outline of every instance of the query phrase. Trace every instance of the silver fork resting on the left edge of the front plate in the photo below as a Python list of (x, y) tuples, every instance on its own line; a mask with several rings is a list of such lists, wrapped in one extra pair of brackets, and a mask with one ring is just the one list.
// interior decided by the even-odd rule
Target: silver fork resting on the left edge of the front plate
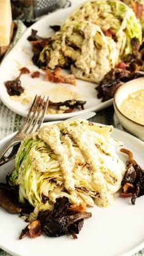
[[(27, 114), (26, 119), (24, 120), (24, 123), (21, 126), (20, 130), (18, 131), (18, 133), (16, 133), (12, 140), (5, 145), (5, 147), (0, 152), (0, 166), (15, 158), (16, 152), (19, 147), (19, 145), (17, 144), (20, 144), (20, 142), (23, 141), (24, 137), (26, 137), (27, 134), (31, 134), (37, 131), (38, 128), (40, 128), (46, 114), (46, 109), (48, 108), (48, 101), (49, 97), (45, 102), (45, 96), (43, 97), (43, 99), (41, 99), (40, 96), (35, 95), (32, 106), (29, 109), (29, 113)], [(13, 147), (13, 150), (10, 153), (10, 155), (4, 156), (10, 147)]]

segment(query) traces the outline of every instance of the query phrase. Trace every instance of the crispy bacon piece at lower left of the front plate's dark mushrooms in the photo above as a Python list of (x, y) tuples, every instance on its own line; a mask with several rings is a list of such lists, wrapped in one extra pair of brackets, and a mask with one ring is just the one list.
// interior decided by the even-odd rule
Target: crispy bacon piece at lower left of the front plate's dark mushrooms
[(31, 238), (37, 238), (41, 235), (41, 224), (40, 221), (32, 221), (29, 225), (27, 225), (21, 232), (19, 239), (23, 239), (25, 236), (29, 236)]

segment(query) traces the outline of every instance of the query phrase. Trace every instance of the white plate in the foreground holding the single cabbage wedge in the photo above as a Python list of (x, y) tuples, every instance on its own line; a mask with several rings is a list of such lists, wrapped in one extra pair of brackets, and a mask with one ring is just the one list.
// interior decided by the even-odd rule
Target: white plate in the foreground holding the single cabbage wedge
[[(0, 141), (0, 150), (13, 134)], [(124, 142), (124, 147), (134, 153), (134, 158), (142, 167), (144, 143), (134, 136), (115, 129), (113, 137)], [(125, 162), (126, 156), (117, 153)], [(0, 167), (0, 182), (12, 171), (13, 162)], [(121, 199), (116, 194), (115, 203), (108, 208), (88, 208), (92, 218), (84, 221), (84, 227), (77, 240), (68, 236), (18, 240), (26, 223), (17, 215), (9, 214), (0, 207), (0, 247), (12, 255), (21, 256), (131, 256), (144, 247), (143, 211), (144, 197), (139, 197), (135, 205), (130, 199)]]

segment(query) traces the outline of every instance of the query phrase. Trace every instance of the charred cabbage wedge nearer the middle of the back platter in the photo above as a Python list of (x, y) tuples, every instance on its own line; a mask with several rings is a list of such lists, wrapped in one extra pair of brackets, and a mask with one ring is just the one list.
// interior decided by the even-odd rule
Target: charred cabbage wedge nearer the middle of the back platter
[(118, 62), (116, 43), (88, 21), (67, 21), (40, 54), (48, 68), (68, 67), (79, 79), (99, 82)]

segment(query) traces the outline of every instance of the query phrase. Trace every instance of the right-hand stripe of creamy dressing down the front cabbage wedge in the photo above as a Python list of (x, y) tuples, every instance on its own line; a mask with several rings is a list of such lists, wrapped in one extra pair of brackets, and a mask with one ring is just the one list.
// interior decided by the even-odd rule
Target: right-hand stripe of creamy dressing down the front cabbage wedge
[(110, 198), (109, 191), (107, 191), (106, 181), (104, 180), (103, 174), (101, 174), (98, 160), (99, 152), (95, 147), (93, 137), (90, 136), (89, 131), (80, 123), (77, 123), (74, 131), (72, 126), (67, 126), (66, 129), (68, 134), (73, 137), (74, 141), (81, 149), (87, 163), (92, 167), (92, 179), (95, 183), (95, 189), (96, 191), (101, 191), (100, 196), (95, 199), (96, 203), (99, 206), (106, 207), (112, 199)]

